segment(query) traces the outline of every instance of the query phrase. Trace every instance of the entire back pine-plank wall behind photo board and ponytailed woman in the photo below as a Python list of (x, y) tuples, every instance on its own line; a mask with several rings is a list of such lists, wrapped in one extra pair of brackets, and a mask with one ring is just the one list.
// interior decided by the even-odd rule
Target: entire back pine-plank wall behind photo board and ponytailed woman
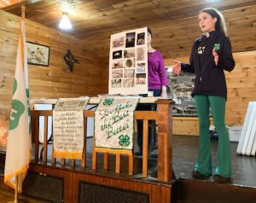
[[(198, 9), (200, 10), (200, 9)], [(229, 97), (226, 110), (227, 125), (242, 125), (249, 101), (255, 98), (255, 51), (256, 51), (256, 5), (242, 6), (241, 8), (221, 9), (224, 14), (232, 50), (236, 60), (236, 69), (232, 73), (226, 73)], [(177, 20), (170, 20), (168, 16), (160, 23), (154, 20), (148, 24), (153, 31), (152, 45), (160, 49), (166, 59), (166, 66), (173, 64), (174, 59), (188, 61), (192, 44), (195, 38), (201, 35), (198, 27), (197, 15)], [(137, 28), (132, 27), (131, 28)], [(119, 26), (119, 32), (127, 27)], [(108, 57), (109, 36), (113, 32), (108, 30), (104, 33), (90, 36), (90, 43), (86, 44), (88, 49), (98, 51), (104, 57)], [(101, 44), (94, 44), (94, 41)], [(94, 45), (93, 45), (94, 44)], [(105, 54), (104, 54), (105, 53)], [(198, 121), (196, 119), (174, 119), (173, 134), (198, 135)]]

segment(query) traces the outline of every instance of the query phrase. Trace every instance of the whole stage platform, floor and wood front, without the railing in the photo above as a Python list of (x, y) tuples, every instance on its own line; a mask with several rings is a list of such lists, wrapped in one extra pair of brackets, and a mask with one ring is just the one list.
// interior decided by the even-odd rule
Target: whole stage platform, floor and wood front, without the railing
[[(91, 150), (91, 140), (87, 139), (87, 150)], [(79, 174), (80, 177), (84, 177), (85, 183), (92, 183), (91, 186), (108, 185), (111, 192), (112, 188), (125, 188), (125, 192), (134, 191), (139, 192), (136, 196), (130, 195), (131, 198), (135, 198), (133, 202), (256, 202), (256, 158), (236, 155), (237, 142), (230, 142), (231, 158), (232, 158), (232, 183), (218, 184), (214, 183), (212, 177), (207, 180), (195, 180), (191, 176), (193, 165), (198, 150), (198, 136), (173, 136), (172, 137), (172, 160), (173, 170), (176, 175), (176, 180), (170, 183), (160, 183), (156, 178), (151, 177), (151, 172), (156, 170), (157, 160), (148, 159), (148, 177), (142, 177), (142, 157), (135, 157), (134, 159), (134, 176), (128, 176), (128, 157), (121, 158), (121, 169), (120, 174), (117, 175), (114, 170), (115, 156), (109, 156), (109, 167), (108, 172), (102, 170), (102, 159), (103, 154), (98, 157), (98, 168), (97, 171), (90, 169), (91, 165), (91, 154), (87, 154), (86, 169), (81, 168), (79, 162), (76, 162), (74, 167), (68, 166), (67, 162), (65, 168), (56, 163), (52, 166), (49, 162), (48, 165), (31, 165), (31, 172), (36, 171), (37, 173), (47, 174), (46, 177), (67, 177), (67, 174), (73, 176), (70, 181), (73, 181), (73, 187), (75, 180), (78, 179), (74, 174)], [(50, 147), (50, 145), (49, 145)], [(212, 141), (212, 165), (216, 165), (218, 141)], [(50, 159), (50, 154), (48, 154)], [(52, 169), (56, 169), (54, 172)], [(3, 173), (3, 169), (2, 169)], [(65, 175), (65, 173), (67, 173)], [(31, 173), (30, 178), (35, 178), (35, 173)], [(84, 174), (84, 175), (83, 175)], [(73, 179), (74, 178), (74, 179)], [(2, 177), (3, 179), (3, 177)], [(43, 180), (41, 180), (43, 181)], [(48, 181), (51, 181), (50, 179)], [(44, 182), (44, 181), (43, 181)], [(42, 182), (42, 183), (43, 183)], [(95, 183), (93, 183), (95, 182)], [(3, 182), (2, 182), (3, 183)], [(31, 183), (31, 182), (27, 182)], [(26, 184), (27, 184), (26, 183)], [(54, 182), (53, 182), (54, 183)], [(56, 184), (56, 183), (54, 183)], [(89, 184), (90, 186), (90, 184)], [(27, 187), (27, 185), (26, 185)], [(77, 193), (79, 188), (75, 189)], [(145, 190), (145, 191), (144, 191)], [(31, 194), (30, 191), (24, 190), (25, 194)], [(87, 191), (88, 192), (88, 191)], [(145, 196), (140, 196), (146, 194)], [(170, 193), (170, 194), (168, 194)], [(154, 198), (152, 197), (154, 196)], [(165, 196), (165, 198), (161, 196)], [(42, 198), (42, 197), (41, 197)], [(141, 198), (141, 199), (139, 199)], [(131, 199), (132, 200), (132, 199)], [(58, 201), (55, 201), (58, 202)], [(72, 202), (72, 201), (69, 201)], [(77, 202), (74, 200), (73, 202)], [(79, 200), (79, 202), (102, 202), (90, 201), (90, 200)], [(117, 201), (119, 202), (119, 201)], [(131, 201), (120, 201), (131, 202)]]

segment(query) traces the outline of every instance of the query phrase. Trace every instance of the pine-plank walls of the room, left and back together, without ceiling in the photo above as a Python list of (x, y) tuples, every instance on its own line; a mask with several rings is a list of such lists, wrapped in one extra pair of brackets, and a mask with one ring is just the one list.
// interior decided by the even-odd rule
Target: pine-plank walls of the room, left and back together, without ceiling
[[(226, 74), (229, 87), (226, 111), (227, 125), (241, 125), (246, 113), (247, 103), (255, 100), (255, 10), (256, 5), (224, 10), (236, 59), (236, 69), (232, 73)], [(9, 124), (19, 18), (0, 11), (0, 22), (1, 137), (6, 136), (6, 132), (2, 130), (6, 130)], [(174, 58), (183, 59), (182, 61), (188, 60), (191, 45), (195, 38), (200, 35), (196, 15), (179, 20), (163, 19), (160, 23), (152, 21), (148, 25), (141, 26), (152, 28), (154, 32), (153, 46), (163, 53), (166, 66), (172, 65)], [(119, 26), (119, 29), (120, 32), (124, 30), (122, 26)], [(58, 98), (107, 93), (108, 51), (111, 34), (113, 33), (106, 31), (88, 37), (81, 42), (48, 27), (27, 21), (27, 40), (50, 46), (49, 67), (29, 66), (31, 97)], [(67, 72), (63, 61), (63, 55), (66, 54), (67, 49), (71, 49), (73, 55), (80, 61), (80, 64), (75, 64), (73, 73)], [(102, 58), (97, 55), (101, 55)], [(198, 134), (196, 130), (197, 121), (186, 121), (189, 122), (189, 125), (180, 119), (177, 119), (176, 122), (179, 123), (178, 125), (173, 124), (174, 134), (176, 132), (188, 135)]]

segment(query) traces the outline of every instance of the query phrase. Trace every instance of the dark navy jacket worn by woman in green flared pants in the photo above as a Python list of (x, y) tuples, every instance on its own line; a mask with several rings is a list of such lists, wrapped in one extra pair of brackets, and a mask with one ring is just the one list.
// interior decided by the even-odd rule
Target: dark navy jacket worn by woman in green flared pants
[[(212, 55), (214, 44), (219, 44), (220, 47), (217, 66)], [(227, 99), (224, 70), (231, 72), (235, 67), (235, 61), (230, 39), (225, 37), (224, 33), (212, 31), (208, 38), (203, 35), (196, 39), (191, 50), (189, 63), (182, 63), (182, 71), (195, 73), (195, 87), (192, 96), (223, 96)]]

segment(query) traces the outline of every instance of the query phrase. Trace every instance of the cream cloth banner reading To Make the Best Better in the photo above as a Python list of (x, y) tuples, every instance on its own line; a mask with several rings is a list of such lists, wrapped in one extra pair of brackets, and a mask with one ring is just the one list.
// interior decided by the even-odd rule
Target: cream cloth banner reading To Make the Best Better
[(102, 98), (95, 112), (96, 148), (133, 148), (137, 102), (138, 97)]

